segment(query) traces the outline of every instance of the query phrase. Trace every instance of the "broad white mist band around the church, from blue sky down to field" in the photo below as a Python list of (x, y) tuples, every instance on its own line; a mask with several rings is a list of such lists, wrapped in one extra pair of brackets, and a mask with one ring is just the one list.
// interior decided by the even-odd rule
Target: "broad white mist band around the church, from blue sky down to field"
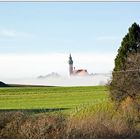
[(114, 54), (110, 53), (73, 53), (73, 67), (86, 69), (89, 76), (69, 77), (68, 53), (1, 55), (0, 77), (1, 81), (7, 84), (104, 85), (111, 77), (110, 71), (114, 67), (113, 56)]

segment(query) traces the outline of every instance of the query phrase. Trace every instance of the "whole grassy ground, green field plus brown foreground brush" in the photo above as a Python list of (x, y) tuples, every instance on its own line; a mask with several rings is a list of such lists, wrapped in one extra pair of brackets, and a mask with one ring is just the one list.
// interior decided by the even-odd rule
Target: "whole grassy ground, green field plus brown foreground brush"
[(116, 110), (105, 86), (0, 88), (0, 138), (140, 138), (131, 106)]

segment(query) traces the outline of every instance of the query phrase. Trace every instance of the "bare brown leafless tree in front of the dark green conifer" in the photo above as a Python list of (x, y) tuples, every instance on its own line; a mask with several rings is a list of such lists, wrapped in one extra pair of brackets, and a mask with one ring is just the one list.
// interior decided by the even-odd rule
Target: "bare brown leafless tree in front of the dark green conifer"
[(118, 102), (128, 96), (134, 100), (140, 98), (140, 54), (130, 54), (124, 66), (125, 70), (112, 73), (110, 84), (111, 98)]

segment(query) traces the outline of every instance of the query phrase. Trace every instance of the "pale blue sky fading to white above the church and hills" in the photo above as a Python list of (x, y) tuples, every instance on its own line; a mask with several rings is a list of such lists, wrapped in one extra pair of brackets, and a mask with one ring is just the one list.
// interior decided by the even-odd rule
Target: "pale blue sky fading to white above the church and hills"
[(110, 72), (140, 2), (0, 2), (0, 77)]

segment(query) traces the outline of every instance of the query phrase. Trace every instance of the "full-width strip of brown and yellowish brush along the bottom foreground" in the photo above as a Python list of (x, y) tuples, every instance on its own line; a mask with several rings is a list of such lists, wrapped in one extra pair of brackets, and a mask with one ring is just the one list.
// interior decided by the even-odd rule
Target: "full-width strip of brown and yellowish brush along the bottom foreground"
[[(103, 105), (102, 105), (103, 106)], [(14, 139), (66, 139), (66, 138), (139, 138), (140, 129), (136, 128), (133, 115), (112, 110), (96, 108), (87, 115), (75, 112), (68, 118), (61, 114), (26, 114), (24, 112), (1, 112), (0, 138)], [(88, 112), (90, 111), (90, 112)], [(78, 118), (78, 115), (80, 117)]]

